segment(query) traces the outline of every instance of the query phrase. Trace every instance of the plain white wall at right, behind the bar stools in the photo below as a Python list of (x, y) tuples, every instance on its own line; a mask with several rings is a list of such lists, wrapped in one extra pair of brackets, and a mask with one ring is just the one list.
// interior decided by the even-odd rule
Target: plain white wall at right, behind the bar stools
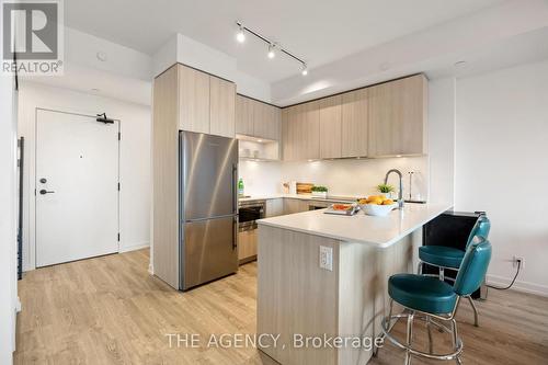
[(457, 82), (456, 208), (492, 220), (489, 281), (548, 295), (548, 61)]

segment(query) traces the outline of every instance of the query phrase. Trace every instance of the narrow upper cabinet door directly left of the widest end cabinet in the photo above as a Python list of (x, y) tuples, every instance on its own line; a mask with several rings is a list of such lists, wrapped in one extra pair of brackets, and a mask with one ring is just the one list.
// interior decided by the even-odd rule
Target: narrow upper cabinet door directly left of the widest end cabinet
[(342, 157), (367, 156), (367, 89), (342, 95)]

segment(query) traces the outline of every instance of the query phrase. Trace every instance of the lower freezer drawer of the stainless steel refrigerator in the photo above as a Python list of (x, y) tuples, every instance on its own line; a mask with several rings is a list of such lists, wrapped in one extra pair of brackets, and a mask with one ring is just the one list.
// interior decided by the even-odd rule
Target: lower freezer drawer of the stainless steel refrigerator
[(182, 229), (181, 289), (238, 271), (236, 216), (187, 221)]

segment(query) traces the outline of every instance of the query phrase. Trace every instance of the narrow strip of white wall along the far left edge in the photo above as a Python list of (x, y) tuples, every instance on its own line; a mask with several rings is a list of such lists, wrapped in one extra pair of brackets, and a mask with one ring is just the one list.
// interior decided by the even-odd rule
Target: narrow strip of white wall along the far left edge
[(15, 350), (16, 286), (16, 124), (13, 81), (0, 76), (0, 364)]

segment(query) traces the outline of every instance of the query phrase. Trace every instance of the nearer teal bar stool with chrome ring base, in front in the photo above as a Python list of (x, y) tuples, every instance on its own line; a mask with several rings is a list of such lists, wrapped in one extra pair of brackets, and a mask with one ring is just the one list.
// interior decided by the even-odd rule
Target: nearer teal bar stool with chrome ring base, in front
[[(381, 321), (383, 335), (396, 346), (406, 350), (406, 365), (411, 363), (411, 355), (432, 360), (455, 360), (461, 364), (463, 341), (458, 337), (457, 312), (460, 298), (468, 297), (476, 292), (487, 273), (491, 260), (491, 243), (481, 236), (476, 236), (469, 244), (455, 283), (452, 285), (436, 277), (396, 274), (388, 280), (388, 295), (390, 296), (390, 312)], [(406, 309), (402, 313), (392, 315), (393, 301)], [(400, 318), (407, 319), (407, 339), (401, 343), (390, 334), (392, 327)], [(429, 352), (412, 347), (413, 320), (425, 320), (429, 333)], [(444, 324), (448, 322), (450, 326)], [(446, 354), (433, 353), (431, 327), (452, 333), (454, 351)]]

